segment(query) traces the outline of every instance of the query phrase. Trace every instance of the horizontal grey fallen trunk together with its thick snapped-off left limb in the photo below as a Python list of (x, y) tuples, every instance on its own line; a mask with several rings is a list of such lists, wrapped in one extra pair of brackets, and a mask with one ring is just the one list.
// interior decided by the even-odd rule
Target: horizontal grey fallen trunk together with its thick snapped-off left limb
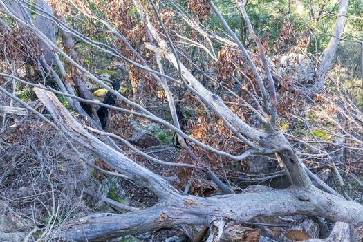
[(363, 225), (362, 205), (322, 192), (312, 185), (292, 186), (285, 190), (263, 189), (210, 198), (181, 195), (166, 180), (88, 133), (53, 93), (37, 88), (34, 91), (67, 136), (91, 149), (108, 165), (147, 187), (160, 198), (156, 205), (145, 210), (82, 218), (63, 227), (61, 232), (54, 235), (57, 238), (104, 241), (107, 238), (140, 234), (175, 225), (210, 226), (217, 220), (236, 225), (259, 216), (293, 214), (321, 216), (331, 221), (350, 223), (355, 227)]

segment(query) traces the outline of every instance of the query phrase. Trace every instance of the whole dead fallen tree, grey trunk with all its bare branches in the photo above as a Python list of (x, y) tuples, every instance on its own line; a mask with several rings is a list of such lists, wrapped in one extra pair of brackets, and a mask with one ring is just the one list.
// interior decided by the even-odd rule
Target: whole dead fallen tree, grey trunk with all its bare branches
[[(111, 22), (97, 18), (97, 16), (93, 15), (88, 8), (84, 7), (84, 15), (100, 21), (100, 23), (104, 25), (104, 28), (107, 28), (114, 35), (113, 37), (118, 38), (122, 41), (124, 46), (129, 48), (129, 52), (133, 53), (133, 58), (137, 59), (137, 61), (125, 57), (122, 53), (120, 53), (120, 51), (118, 51), (117, 48), (113, 48), (113, 46), (93, 41), (89, 37), (86, 37), (80, 32), (66, 26), (63, 23), (64, 19), (57, 19), (48, 12), (43, 13), (48, 16), (49, 19), (53, 19), (53, 22), (58, 26), (58, 28), (62, 28), (64, 32), (71, 32), (72, 35), (81, 41), (84, 41), (85, 44), (88, 44), (93, 48), (97, 48), (98, 50), (102, 50), (105, 54), (118, 58), (122, 60), (122, 62), (126, 62), (136, 68), (140, 68), (142, 71), (149, 73), (153, 76), (153, 78), (158, 80), (167, 95), (169, 109), (173, 115), (173, 124), (162, 120), (151, 113), (151, 111), (145, 109), (145, 106), (132, 102), (118, 91), (111, 89), (93, 75), (93, 73), (82, 66), (82, 64), (77, 62), (71, 54), (66, 53), (64, 50), (59, 48), (36, 26), (29, 24), (24, 21), (24, 19), (21, 19), (21, 17), (12, 13), (8, 6), (3, 3), (3, 1), (0, 1), (1, 6), (6, 10), (6, 13), (10, 17), (19, 21), (24, 28), (33, 32), (33, 34), (46, 44), (48, 48), (54, 51), (55, 55), (53, 57), (59, 59), (58, 55), (62, 56), (68, 64), (71, 64), (77, 71), (82, 73), (82, 75), (107, 89), (110, 95), (115, 95), (115, 97), (118, 97), (131, 108), (126, 109), (97, 103), (93, 100), (87, 100), (84, 97), (77, 97), (74, 93), (71, 93), (71, 91), (67, 91), (66, 89), (57, 91), (39, 84), (30, 84), (29, 82), (17, 77), (12, 78), (15, 78), (18, 82), (35, 86), (33, 90), (41, 103), (46, 106), (47, 111), (52, 115), (54, 120), (53, 125), (57, 127), (57, 129), (59, 129), (59, 131), (66, 137), (73, 142), (77, 142), (78, 144), (88, 148), (90, 151), (95, 153), (96, 156), (102, 158), (107, 165), (122, 174), (121, 176), (123, 178), (131, 180), (133, 183), (137, 183), (138, 185), (149, 189), (158, 197), (158, 203), (156, 203), (156, 205), (147, 207), (144, 210), (135, 210), (124, 214), (97, 214), (78, 219), (74, 223), (63, 225), (60, 231), (53, 234), (54, 238), (68, 239), (70, 241), (104, 241), (104, 239), (114, 238), (117, 236), (140, 234), (142, 232), (160, 230), (162, 228), (174, 227), (176, 225), (204, 225), (210, 227), (210, 237), (207, 241), (219, 241), (223, 236), (225, 236), (225, 234), (223, 235), (224, 230), (229, 231), (231, 227), (239, 227), (241, 224), (251, 221), (254, 218), (259, 218), (261, 216), (270, 217), (294, 214), (319, 216), (330, 221), (344, 222), (338, 224), (339, 226), (342, 225), (341, 227), (343, 227), (342, 230), (344, 231), (346, 230), (346, 227), (349, 227), (349, 225), (353, 227), (363, 225), (363, 206), (359, 203), (342, 198), (342, 196), (339, 196), (339, 194), (331, 189), (331, 187), (328, 187), (314, 174), (311, 174), (311, 172), (309, 172), (301, 163), (299, 156), (297, 156), (297, 152), (292, 147), (286, 136), (277, 129), (277, 96), (274, 80), (270, 72), (270, 66), (266, 61), (266, 54), (261, 46), (261, 41), (259, 41), (258, 37), (254, 35), (252, 24), (248, 19), (247, 12), (243, 8), (243, 4), (241, 5), (241, 1), (237, 2), (240, 3), (239, 7), (242, 9), (243, 17), (245, 19), (245, 23), (248, 25), (252, 39), (254, 39), (259, 47), (260, 61), (263, 66), (263, 71), (267, 76), (267, 84), (261, 77), (261, 70), (259, 70), (255, 62), (250, 57), (248, 50), (245, 49), (243, 44), (228, 26), (227, 22), (223, 18), (223, 15), (221, 15), (218, 11), (218, 8), (214, 6), (212, 1), (205, 1), (205, 3), (209, 4), (208, 6), (210, 6), (210, 8), (207, 9), (212, 9), (214, 14), (221, 21), (223, 28), (225, 28), (232, 39), (234, 39), (236, 42), (234, 43), (234, 46), (238, 46), (239, 50), (241, 50), (254, 74), (258, 90), (256, 93), (259, 93), (259, 97), (256, 97), (256, 99), (258, 98), (257, 103), (259, 108), (254, 109), (252, 106), (249, 107), (253, 113), (257, 115), (261, 123), (261, 127), (259, 128), (254, 127), (252, 124), (248, 124), (248, 122), (236, 115), (236, 113), (234, 113), (234, 111), (225, 104), (221, 96), (216, 95), (203, 86), (203, 84), (201, 84), (196, 77), (192, 75), (191, 71), (189, 71), (185, 64), (183, 64), (184, 59), (180, 57), (180, 52), (165, 27), (166, 23), (162, 21), (162, 17), (160, 16), (160, 6), (156, 6), (156, 4), (151, 0), (151, 5), (149, 6), (150, 9), (153, 10), (151, 13), (140, 9), (138, 1), (133, 2), (136, 8), (139, 8), (140, 18), (142, 18), (143, 21), (142, 26), (146, 27), (145, 33), (148, 35), (149, 41), (147, 41), (144, 47), (149, 51), (149, 53), (154, 55), (153, 57), (155, 57), (154, 59), (156, 60), (156, 65), (154, 66), (151, 66), (153, 62), (144, 59), (144, 57), (142, 57), (142, 55), (132, 47), (127, 38), (114, 28)], [(347, 1), (344, 0), (342, 0), (342, 2), (347, 3)], [(70, 3), (73, 3), (73, 1)], [(24, 3), (21, 4), (21, 2), (19, 2), (19, 4), (24, 6)], [(37, 8), (37, 6), (35, 6), (35, 8)], [(202, 35), (205, 36), (206, 39), (209, 38), (209, 36), (205, 35), (203, 32), (203, 29), (197, 30), (202, 32)], [(202, 48), (206, 47), (202, 46)], [(210, 55), (213, 56), (212, 50), (210, 51)], [(163, 62), (161, 60), (163, 60)], [(174, 74), (176, 77), (165, 74), (163, 67), (165, 62), (174, 66), (174, 71), (176, 71), (176, 74)], [(51, 69), (52, 67), (49, 66), (49, 68)], [(158, 71), (154, 68), (158, 68)], [(10, 76), (3, 73), (0, 75), (7, 77)], [(63, 78), (62, 82), (66, 83), (64, 77), (60, 78)], [(235, 155), (219, 150), (218, 148), (211, 147), (210, 145), (206, 145), (205, 143), (200, 142), (192, 136), (184, 133), (180, 129), (180, 125), (178, 125), (179, 122), (176, 115), (174, 99), (169, 89), (170, 83), (183, 86), (192, 93), (194, 97), (198, 98), (200, 102), (207, 106), (209, 111), (212, 111), (216, 117), (221, 119), (225, 127), (230, 129), (234, 136), (239, 138), (239, 140), (241, 140), (248, 149), (244, 153)], [(266, 88), (266, 86), (268, 86), (268, 88)], [(6, 93), (6, 91), (2, 88), (0, 91)], [(95, 134), (111, 136), (112, 138), (121, 140), (131, 149), (137, 150), (131, 144), (125, 142), (120, 136), (104, 133), (94, 127), (87, 127), (86, 124), (78, 122), (59, 102), (54, 93), (65, 95), (69, 100), (71, 100), (71, 102), (97, 104), (104, 106), (107, 109), (114, 109), (122, 113), (128, 113), (134, 116), (147, 118), (153, 122), (158, 122), (176, 132), (178, 137), (180, 137), (181, 142), (184, 142), (184, 139), (188, 140), (206, 151), (215, 153), (218, 156), (226, 157), (235, 162), (239, 162), (251, 155), (276, 156), (281, 167), (283, 167), (286, 171), (290, 187), (283, 190), (261, 189), (254, 192), (242, 192), (240, 194), (212, 196), (208, 198), (183, 194), (158, 174), (153, 173), (149, 169), (139, 165), (138, 162), (125, 156), (120, 149), (112, 147), (100, 138), (97, 138)], [(6, 93), (6, 95), (10, 94)], [(11, 97), (16, 98), (13, 96)], [(26, 106), (26, 108), (36, 113), (36, 111), (34, 109), (30, 109), (29, 106)], [(206, 167), (203, 159), (197, 157), (193, 151), (188, 150), (188, 147), (183, 146), (183, 149), (186, 149), (189, 156), (198, 161), (198, 165), (189, 164), (189, 167), (193, 167), (195, 169), (209, 168)], [(151, 159), (142, 151), (138, 152), (142, 156)], [(176, 165), (172, 163), (166, 164), (168, 162), (162, 162), (157, 159), (154, 160), (163, 165)], [(188, 166), (188, 164), (178, 165)], [(322, 189), (315, 187), (311, 179), (317, 181), (319, 188)], [(225, 185), (222, 183), (220, 186), (223, 187)], [(336, 230), (333, 230), (333, 232), (342, 231), (339, 230), (339, 227), (335, 228)], [(351, 230), (349, 229), (349, 231)], [(331, 236), (333, 237), (335, 235), (332, 234)], [(351, 234), (346, 236), (346, 238), (351, 238), (348, 237), (351, 236)]]

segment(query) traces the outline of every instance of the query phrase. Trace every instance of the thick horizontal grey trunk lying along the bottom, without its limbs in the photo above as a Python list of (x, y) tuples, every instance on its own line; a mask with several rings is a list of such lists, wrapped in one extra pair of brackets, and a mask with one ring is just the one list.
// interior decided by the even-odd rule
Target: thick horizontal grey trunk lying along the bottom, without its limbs
[[(333, 221), (363, 224), (363, 207), (318, 189), (290, 187), (286, 190), (245, 192), (210, 198), (183, 196), (142, 211), (87, 217), (65, 227), (61, 234), (75, 241), (89, 241), (125, 234), (140, 234), (175, 225), (206, 225), (215, 219), (241, 224), (258, 216), (317, 214)], [(83, 232), (83, 231), (84, 232)]]

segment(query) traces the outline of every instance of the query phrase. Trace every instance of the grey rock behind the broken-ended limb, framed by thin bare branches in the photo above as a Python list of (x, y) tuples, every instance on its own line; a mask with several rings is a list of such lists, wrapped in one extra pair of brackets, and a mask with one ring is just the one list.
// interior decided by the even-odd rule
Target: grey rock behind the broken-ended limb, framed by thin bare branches
[(129, 120), (131, 129), (133, 129), (133, 136), (129, 139), (133, 145), (137, 145), (140, 148), (148, 148), (157, 145), (161, 145), (158, 138), (144, 125), (136, 120)]

